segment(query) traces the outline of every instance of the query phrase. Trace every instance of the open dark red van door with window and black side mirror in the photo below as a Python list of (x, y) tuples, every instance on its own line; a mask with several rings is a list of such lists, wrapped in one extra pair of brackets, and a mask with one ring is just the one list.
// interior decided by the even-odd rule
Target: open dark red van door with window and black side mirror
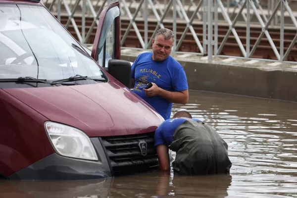
[(120, 60), (121, 27), (118, 1), (104, 7), (100, 14), (91, 56), (105, 71), (130, 88), (131, 63)]

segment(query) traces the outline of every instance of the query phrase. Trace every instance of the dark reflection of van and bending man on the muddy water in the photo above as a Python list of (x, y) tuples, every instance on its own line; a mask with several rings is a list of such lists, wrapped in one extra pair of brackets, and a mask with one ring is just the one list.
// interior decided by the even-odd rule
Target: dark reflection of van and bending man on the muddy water
[(222, 198), (228, 195), (227, 190), (231, 182), (231, 175), (173, 177), (173, 175), (156, 172), (98, 181), (14, 181), (0, 183), (0, 197)]

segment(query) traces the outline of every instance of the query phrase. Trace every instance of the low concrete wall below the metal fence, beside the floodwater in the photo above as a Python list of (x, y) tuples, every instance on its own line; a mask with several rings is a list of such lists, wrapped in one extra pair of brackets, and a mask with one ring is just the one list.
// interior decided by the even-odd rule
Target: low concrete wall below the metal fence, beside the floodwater
[[(141, 52), (134, 49), (122, 52), (121, 59), (133, 62)], [(172, 56), (184, 66), (191, 90), (297, 101), (297, 63), (235, 58), (215, 58), (208, 62), (206, 57), (197, 55)]]

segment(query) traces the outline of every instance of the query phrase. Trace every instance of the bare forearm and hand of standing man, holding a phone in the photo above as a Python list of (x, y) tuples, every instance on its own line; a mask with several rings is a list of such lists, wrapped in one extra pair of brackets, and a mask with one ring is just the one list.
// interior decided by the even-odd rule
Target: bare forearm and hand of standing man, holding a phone
[(143, 89), (148, 97), (160, 96), (167, 99), (169, 102), (186, 104), (189, 100), (189, 91), (183, 90), (180, 92), (170, 92), (159, 88), (155, 83), (152, 83), (152, 87), (149, 89)]

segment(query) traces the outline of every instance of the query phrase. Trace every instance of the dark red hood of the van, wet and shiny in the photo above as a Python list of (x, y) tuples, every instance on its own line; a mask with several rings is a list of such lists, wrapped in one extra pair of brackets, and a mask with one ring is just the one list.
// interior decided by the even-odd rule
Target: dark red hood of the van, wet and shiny
[(116, 83), (5, 89), (50, 121), (76, 127), (89, 137), (154, 131), (162, 118)]

